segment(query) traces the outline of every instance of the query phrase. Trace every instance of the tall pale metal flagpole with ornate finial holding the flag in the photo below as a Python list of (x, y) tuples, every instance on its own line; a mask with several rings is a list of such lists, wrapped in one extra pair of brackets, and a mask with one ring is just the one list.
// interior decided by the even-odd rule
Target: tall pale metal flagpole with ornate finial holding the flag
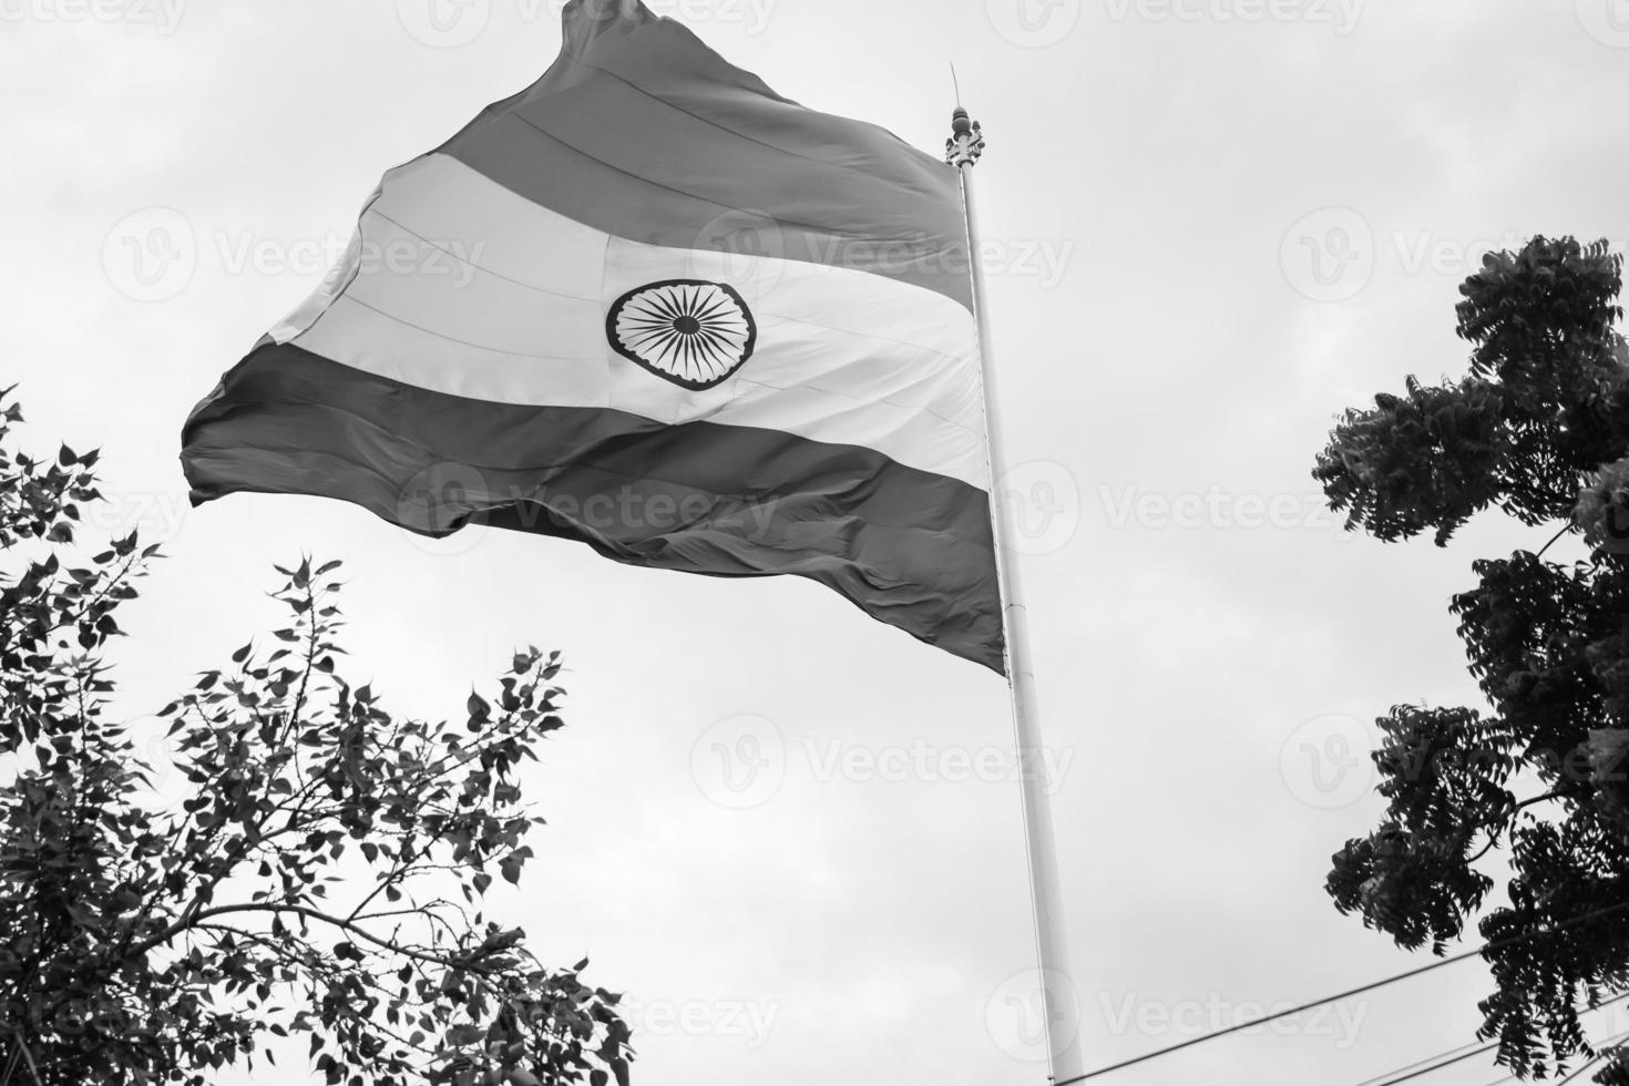
[(1012, 503), (1002, 490), (1007, 449), (1002, 444), (1000, 381), (990, 340), (990, 311), (986, 301), (984, 267), (979, 259), (979, 220), (973, 200), (973, 168), (984, 153), (984, 134), (959, 104), (951, 117), (951, 138), (945, 160), (961, 174), (961, 204), (968, 217), (968, 254), (973, 265), (973, 306), (979, 327), (979, 358), (984, 368), (984, 427), (989, 438), (990, 505), (995, 534), (997, 573), (1002, 588), (1002, 625), (1007, 633), (1007, 677), (1012, 690), (1013, 728), (1018, 741), (1020, 785), (1023, 791), (1025, 843), (1030, 855), (1030, 905), (1034, 910), (1036, 959), (1046, 1014), (1047, 1065), (1054, 1086), (1080, 1081), (1085, 1063), (1080, 1053), (1078, 995), (1069, 967), (1064, 928), (1064, 896), (1057, 873), (1057, 840), (1047, 798), (1047, 760), (1030, 661), (1030, 624), (1023, 580), (1010, 541), (1016, 536)]

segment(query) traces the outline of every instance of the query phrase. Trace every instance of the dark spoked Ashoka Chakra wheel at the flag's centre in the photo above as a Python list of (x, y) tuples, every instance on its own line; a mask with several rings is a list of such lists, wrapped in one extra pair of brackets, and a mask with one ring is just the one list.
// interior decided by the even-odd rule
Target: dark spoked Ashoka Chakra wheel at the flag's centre
[(622, 295), (606, 317), (606, 335), (629, 361), (700, 391), (753, 357), (757, 322), (733, 287), (674, 278)]

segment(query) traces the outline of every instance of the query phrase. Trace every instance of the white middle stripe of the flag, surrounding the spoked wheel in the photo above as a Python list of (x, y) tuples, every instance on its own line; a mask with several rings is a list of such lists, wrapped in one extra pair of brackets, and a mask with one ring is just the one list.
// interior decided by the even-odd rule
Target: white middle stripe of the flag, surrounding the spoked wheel
[[(727, 283), (757, 322), (717, 388), (611, 347), (611, 304), (666, 280)], [(386, 174), (347, 267), (274, 337), (453, 396), (782, 430), (989, 488), (963, 306), (868, 272), (614, 238), (443, 155)]]

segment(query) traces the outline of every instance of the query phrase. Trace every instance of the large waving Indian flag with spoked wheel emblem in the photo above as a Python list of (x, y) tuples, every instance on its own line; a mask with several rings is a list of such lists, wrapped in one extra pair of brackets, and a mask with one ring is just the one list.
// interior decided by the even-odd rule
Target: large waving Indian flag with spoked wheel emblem
[(673, 20), (389, 171), (345, 261), (192, 412), (194, 503), (353, 501), (632, 565), (790, 573), (1002, 669), (956, 171)]

